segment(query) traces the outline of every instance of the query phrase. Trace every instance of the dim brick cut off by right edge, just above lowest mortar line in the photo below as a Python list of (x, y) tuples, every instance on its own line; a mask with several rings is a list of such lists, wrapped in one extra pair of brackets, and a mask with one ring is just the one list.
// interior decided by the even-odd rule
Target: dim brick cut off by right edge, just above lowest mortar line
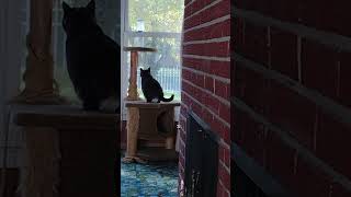
[(318, 114), (316, 155), (351, 178), (351, 161), (342, 152), (351, 148), (351, 127), (322, 112)]

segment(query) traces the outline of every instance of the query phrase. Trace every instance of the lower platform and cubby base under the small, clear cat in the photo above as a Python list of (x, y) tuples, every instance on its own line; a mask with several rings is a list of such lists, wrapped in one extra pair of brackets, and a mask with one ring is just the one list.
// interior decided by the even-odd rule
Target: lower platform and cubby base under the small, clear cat
[[(127, 119), (127, 150), (123, 161), (144, 163), (147, 161), (176, 160), (174, 107), (180, 106), (180, 103), (126, 101), (125, 106), (134, 109), (137, 115)], [(161, 132), (157, 128), (157, 118), (160, 114), (162, 114), (160, 121), (167, 128), (166, 132)], [(140, 148), (138, 140), (165, 141), (165, 146)]]

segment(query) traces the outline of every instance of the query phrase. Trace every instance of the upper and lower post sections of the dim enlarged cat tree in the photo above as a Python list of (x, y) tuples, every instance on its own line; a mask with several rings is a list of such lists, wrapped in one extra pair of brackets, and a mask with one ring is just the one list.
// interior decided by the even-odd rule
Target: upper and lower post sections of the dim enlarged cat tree
[[(24, 91), (12, 103), (63, 104), (54, 81), (52, 55), (53, 0), (31, 0), (30, 33), (26, 37)], [(25, 128), (25, 164), (21, 169), (19, 192), (24, 197), (58, 196), (58, 134), (47, 127)]]

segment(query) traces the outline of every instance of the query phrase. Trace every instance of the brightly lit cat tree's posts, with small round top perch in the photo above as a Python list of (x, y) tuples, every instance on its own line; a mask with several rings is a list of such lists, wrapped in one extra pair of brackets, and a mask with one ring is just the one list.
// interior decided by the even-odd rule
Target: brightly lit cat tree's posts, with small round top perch
[[(137, 67), (138, 67), (138, 51), (152, 51), (154, 48), (145, 47), (124, 47), (125, 51), (131, 51), (131, 76), (128, 95), (126, 101), (138, 101), (139, 95), (137, 91)], [(127, 107), (127, 150), (126, 155), (123, 159), (125, 162), (132, 162), (138, 160), (136, 157), (137, 151), (137, 131), (139, 127), (139, 109), (137, 107)]]

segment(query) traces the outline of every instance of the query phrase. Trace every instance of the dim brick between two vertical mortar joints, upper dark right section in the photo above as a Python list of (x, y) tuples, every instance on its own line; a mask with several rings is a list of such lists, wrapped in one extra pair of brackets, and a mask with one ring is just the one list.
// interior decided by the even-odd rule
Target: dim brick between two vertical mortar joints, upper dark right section
[(272, 69), (297, 81), (297, 36), (276, 28), (270, 33)]

